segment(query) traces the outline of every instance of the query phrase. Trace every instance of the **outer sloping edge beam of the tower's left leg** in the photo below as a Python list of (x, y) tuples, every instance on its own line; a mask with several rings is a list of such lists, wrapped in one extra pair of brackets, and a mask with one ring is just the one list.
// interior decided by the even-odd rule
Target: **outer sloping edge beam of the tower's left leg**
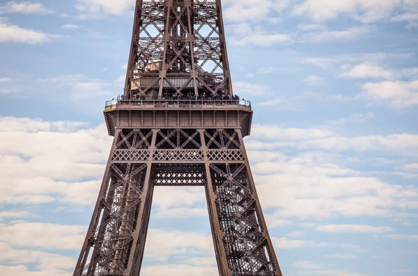
[(88, 254), (90, 254), (91, 247), (93, 246), (93, 243), (91, 242), (91, 238), (93, 238), (95, 229), (98, 227), (100, 214), (102, 213), (102, 209), (103, 209), (102, 200), (104, 200), (104, 198), (106, 197), (107, 190), (109, 189), (109, 184), (110, 184), (109, 171), (110, 171), (110, 165), (111, 165), (111, 158), (114, 154), (116, 144), (118, 143), (118, 137), (119, 137), (120, 132), (121, 132), (121, 129), (116, 129), (114, 141), (111, 145), (109, 159), (107, 160), (106, 170), (104, 170), (104, 176), (102, 180), (102, 185), (100, 186), (98, 200), (96, 201), (96, 204), (94, 207), (93, 216), (91, 218), (90, 225), (88, 226), (86, 238), (84, 239), (82, 251), (80, 252), (79, 259), (75, 266), (73, 276), (82, 275), (84, 266), (86, 265), (86, 261), (88, 259)]

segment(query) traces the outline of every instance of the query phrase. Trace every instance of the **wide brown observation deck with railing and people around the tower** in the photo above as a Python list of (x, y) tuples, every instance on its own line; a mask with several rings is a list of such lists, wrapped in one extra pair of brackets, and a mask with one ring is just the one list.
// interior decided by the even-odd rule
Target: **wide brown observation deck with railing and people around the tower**
[(116, 99), (106, 102), (110, 136), (121, 129), (241, 129), (251, 131), (251, 102), (245, 99)]

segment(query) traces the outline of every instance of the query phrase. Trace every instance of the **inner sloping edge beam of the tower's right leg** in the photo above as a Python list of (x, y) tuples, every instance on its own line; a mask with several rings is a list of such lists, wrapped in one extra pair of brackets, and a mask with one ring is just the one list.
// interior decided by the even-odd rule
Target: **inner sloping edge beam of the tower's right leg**
[(215, 204), (216, 195), (213, 192), (212, 179), (210, 177), (208, 150), (206, 147), (204, 131), (205, 131), (204, 129), (199, 129), (199, 133), (201, 136), (203, 158), (205, 161), (205, 172), (206, 172), (205, 191), (206, 191), (206, 201), (208, 202), (210, 229), (212, 230), (212, 238), (213, 238), (213, 244), (215, 246), (215, 255), (216, 255), (217, 266), (219, 270), (219, 276), (229, 276), (231, 275), (231, 273), (228, 268), (228, 261), (225, 255), (224, 243), (222, 242), (223, 234), (220, 229), (220, 222), (218, 219), (219, 217), (217, 216), (217, 209), (216, 209), (216, 204)]

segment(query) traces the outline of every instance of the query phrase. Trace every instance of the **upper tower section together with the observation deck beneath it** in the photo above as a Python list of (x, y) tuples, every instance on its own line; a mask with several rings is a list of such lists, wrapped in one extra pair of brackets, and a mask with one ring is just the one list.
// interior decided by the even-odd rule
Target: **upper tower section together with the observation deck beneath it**
[(106, 103), (116, 129), (251, 130), (233, 95), (220, 0), (137, 0), (123, 97)]

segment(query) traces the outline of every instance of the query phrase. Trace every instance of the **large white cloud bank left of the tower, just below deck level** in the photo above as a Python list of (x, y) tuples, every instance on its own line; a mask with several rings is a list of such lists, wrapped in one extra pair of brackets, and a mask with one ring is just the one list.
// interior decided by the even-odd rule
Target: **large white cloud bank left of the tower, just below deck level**
[(107, 159), (111, 138), (104, 124), (85, 127), (79, 122), (0, 117), (0, 202), (36, 204), (58, 198), (93, 204), (100, 181), (83, 180), (102, 177), (100, 163)]

